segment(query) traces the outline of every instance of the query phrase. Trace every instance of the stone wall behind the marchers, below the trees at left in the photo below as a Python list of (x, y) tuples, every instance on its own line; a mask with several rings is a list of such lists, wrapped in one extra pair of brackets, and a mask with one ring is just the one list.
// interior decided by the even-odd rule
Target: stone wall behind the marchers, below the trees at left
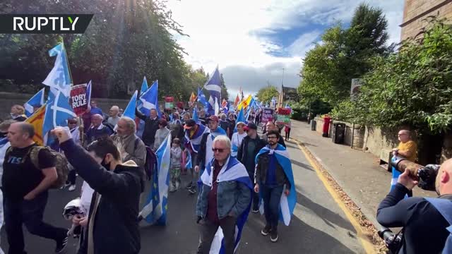
[[(28, 101), (33, 95), (29, 94), (18, 94), (13, 92), (0, 92), (0, 119), (8, 119), (11, 107), (14, 104), (23, 105)], [(100, 107), (103, 112), (108, 113), (109, 108), (112, 105), (117, 105), (122, 109), (125, 109), (129, 103), (128, 99), (104, 99), (104, 98), (93, 98), (97, 101), (97, 107)], [(92, 99), (92, 100), (93, 100)]]

